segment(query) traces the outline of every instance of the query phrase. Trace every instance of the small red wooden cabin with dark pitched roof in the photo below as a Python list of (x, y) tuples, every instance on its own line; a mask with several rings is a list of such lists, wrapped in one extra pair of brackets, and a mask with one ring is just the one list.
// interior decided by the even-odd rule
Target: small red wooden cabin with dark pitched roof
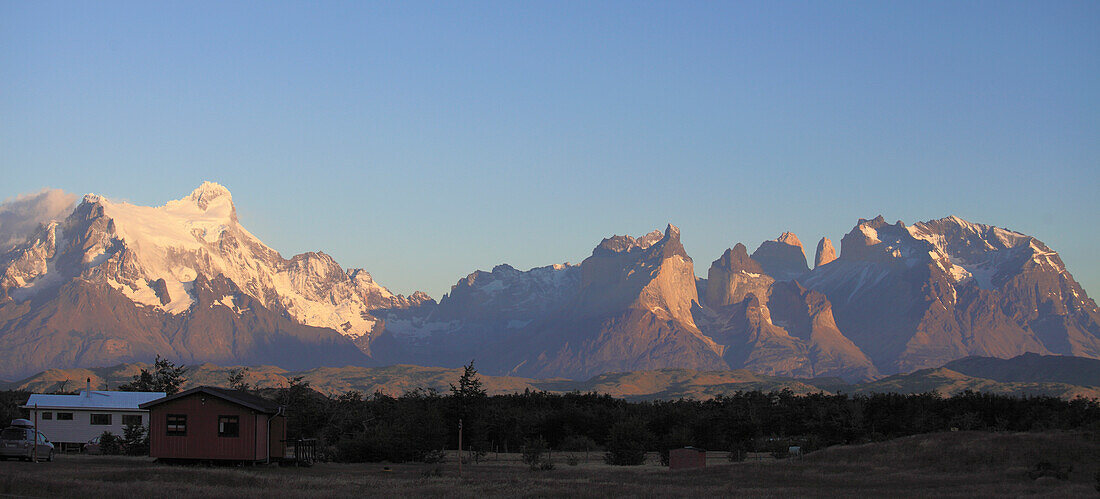
[(160, 459), (271, 462), (286, 455), (278, 404), (240, 390), (198, 387), (140, 406)]

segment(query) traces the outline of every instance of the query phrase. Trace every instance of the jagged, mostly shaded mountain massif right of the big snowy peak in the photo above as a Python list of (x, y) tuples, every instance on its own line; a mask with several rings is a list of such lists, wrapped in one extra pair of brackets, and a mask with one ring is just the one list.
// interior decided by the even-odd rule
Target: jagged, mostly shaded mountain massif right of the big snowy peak
[(580, 266), (471, 274), (435, 309), (383, 314), (371, 352), (524, 376), (691, 367), (867, 380), (969, 355), (1100, 358), (1096, 310), (1042, 242), (955, 217), (860, 220), (839, 257), (821, 241), (814, 269), (792, 233), (752, 256), (737, 244), (705, 279), (670, 225), (608, 237)]

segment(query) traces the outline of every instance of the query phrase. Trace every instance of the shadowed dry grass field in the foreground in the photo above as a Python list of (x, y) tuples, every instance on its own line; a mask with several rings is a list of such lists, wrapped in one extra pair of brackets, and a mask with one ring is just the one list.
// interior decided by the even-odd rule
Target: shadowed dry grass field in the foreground
[[(516, 455), (488, 456), (458, 474), (441, 465), (318, 464), (295, 467), (167, 466), (148, 458), (62, 455), (53, 463), (0, 462), (0, 497), (352, 497), (352, 496), (892, 496), (1096, 497), (1100, 435), (978, 433), (919, 435), (837, 446), (802, 458), (669, 472), (613, 467), (593, 454), (569, 466), (528, 470)], [(1028, 477), (1040, 462), (1072, 466), (1068, 479)], [(389, 470), (385, 470), (385, 467)]]

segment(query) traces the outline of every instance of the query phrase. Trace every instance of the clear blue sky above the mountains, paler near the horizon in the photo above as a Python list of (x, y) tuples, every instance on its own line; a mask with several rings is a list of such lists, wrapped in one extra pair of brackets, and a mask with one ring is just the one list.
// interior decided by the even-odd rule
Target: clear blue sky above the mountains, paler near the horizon
[(439, 298), (672, 222), (956, 214), (1100, 293), (1100, 2), (0, 0), (0, 199), (202, 180), (289, 256)]

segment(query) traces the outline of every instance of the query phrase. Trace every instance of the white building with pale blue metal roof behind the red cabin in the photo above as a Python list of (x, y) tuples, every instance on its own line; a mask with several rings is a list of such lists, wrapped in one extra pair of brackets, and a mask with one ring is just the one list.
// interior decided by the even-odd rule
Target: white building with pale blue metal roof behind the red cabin
[(121, 436), (129, 424), (148, 426), (148, 411), (138, 406), (164, 397), (163, 391), (95, 391), (80, 395), (33, 393), (22, 406), (52, 442), (76, 447), (106, 431)]

